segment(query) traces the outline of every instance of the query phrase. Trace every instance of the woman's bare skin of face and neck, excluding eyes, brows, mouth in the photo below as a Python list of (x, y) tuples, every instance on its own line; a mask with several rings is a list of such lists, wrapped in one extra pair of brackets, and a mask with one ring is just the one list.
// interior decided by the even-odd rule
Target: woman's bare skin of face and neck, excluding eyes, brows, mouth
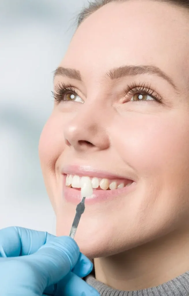
[[(40, 138), (57, 235), (69, 234), (75, 214), (62, 194), (64, 165), (136, 178), (129, 194), (86, 207), (75, 237), (95, 258), (96, 278), (116, 289), (157, 286), (189, 270), (188, 19), (186, 9), (163, 2), (107, 4), (79, 26), (60, 64), (79, 70), (83, 82), (54, 80), (84, 101), (55, 102)], [(157, 66), (177, 90), (155, 74), (105, 75), (122, 65)], [(149, 84), (162, 103), (124, 97), (133, 82)]]

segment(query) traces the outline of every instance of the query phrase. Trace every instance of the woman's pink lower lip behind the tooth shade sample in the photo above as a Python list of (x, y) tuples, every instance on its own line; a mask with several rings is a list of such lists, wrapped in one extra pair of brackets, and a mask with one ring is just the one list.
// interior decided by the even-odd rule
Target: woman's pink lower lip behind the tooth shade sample
[[(93, 190), (92, 197), (89, 197), (85, 199), (86, 205), (93, 205), (97, 202), (103, 202), (103, 201), (110, 201), (114, 200), (120, 195), (125, 196), (126, 194), (130, 193), (133, 189), (135, 183), (115, 190)], [(66, 201), (73, 203), (74, 205), (77, 205), (81, 201), (81, 192), (79, 189), (75, 189), (72, 187), (66, 186), (66, 176), (63, 176), (63, 196)]]

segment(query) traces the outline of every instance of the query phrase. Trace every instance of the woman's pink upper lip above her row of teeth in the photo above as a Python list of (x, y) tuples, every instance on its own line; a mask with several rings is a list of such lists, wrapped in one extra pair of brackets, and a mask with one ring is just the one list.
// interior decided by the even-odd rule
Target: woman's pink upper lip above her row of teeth
[(89, 177), (107, 178), (107, 179), (129, 179), (134, 181), (133, 178), (129, 176), (120, 176), (117, 174), (112, 174), (103, 170), (92, 168), (91, 166), (65, 165), (62, 168), (62, 174), (71, 174), (71, 175), (78, 175), (78, 176), (89, 176)]

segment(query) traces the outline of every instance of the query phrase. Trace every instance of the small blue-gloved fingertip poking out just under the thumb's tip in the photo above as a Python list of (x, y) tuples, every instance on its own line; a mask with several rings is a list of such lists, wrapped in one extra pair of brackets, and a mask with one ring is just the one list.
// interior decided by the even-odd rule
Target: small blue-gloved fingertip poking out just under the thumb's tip
[(82, 253), (79, 254), (79, 259), (72, 269), (72, 272), (79, 277), (85, 277), (91, 273), (93, 268), (92, 262)]

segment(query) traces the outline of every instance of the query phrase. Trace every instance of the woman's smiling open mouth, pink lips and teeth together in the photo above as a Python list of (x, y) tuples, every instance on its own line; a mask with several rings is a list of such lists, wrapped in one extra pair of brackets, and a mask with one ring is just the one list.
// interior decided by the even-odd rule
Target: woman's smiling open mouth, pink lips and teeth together
[(85, 203), (88, 205), (103, 200), (115, 200), (133, 192), (136, 187), (134, 179), (95, 170), (89, 166), (64, 166), (62, 175), (63, 198), (74, 204), (81, 201), (81, 196), (86, 197)]

